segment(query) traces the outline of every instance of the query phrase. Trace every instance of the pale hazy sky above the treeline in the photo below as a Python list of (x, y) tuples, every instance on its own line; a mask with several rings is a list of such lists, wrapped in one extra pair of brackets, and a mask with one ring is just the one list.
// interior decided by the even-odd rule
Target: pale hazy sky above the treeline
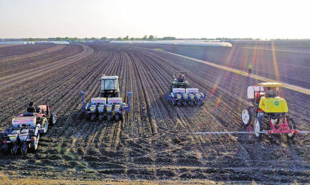
[(2, 38), (310, 38), (310, 1), (0, 0)]

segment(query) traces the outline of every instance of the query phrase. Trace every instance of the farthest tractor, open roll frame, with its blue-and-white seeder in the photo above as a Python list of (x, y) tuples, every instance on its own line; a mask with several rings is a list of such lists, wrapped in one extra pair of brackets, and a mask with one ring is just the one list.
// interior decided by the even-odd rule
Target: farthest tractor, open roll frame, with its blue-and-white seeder
[[(179, 74), (178, 78), (177, 74)], [(197, 88), (189, 88), (188, 81), (185, 80), (186, 78), (187, 73), (185, 71), (175, 72), (175, 76), (173, 76), (174, 81), (170, 85), (170, 92), (169, 90), (166, 92), (167, 100), (171, 100), (172, 104), (178, 107), (181, 105), (185, 107), (188, 105), (192, 107), (194, 105), (202, 105), (203, 100), (206, 98), (206, 90), (201, 93)]]

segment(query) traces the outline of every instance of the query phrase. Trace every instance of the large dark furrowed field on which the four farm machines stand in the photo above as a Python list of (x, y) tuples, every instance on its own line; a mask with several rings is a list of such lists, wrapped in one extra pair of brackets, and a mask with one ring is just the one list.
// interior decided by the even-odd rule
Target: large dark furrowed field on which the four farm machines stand
[[(7, 127), (11, 116), (22, 113), (30, 100), (43, 104), (48, 95), (53, 96), (50, 104), (58, 121), (42, 136), (36, 153), (24, 158), (0, 156), (0, 163), (5, 164), (0, 169), (8, 173), (14, 169), (33, 175), (27, 169), (35, 167), (40, 176), (56, 179), (79, 175), (81, 179), (224, 179), (270, 184), (310, 181), (308, 135), (294, 140), (264, 135), (258, 140), (253, 135), (191, 134), (244, 130), (240, 112), (247, 106), (246, 89), (259, 80), (169, 53), (113, 44), (70, 44), (20, 62), (40, 65), (12, 67), (18, 75), (0, 76), (0, 126)], [(1, 58), (0, 65), (9, 68)], [(174, 107), (166, 100), (177, 70), (188, 72), (192, 87), (207, 90), (204, 106)], [(126, 92), (133, 92), (133, 110), (123, 121), (89, 122), (79, 112), (78, 92), (85, 91), (86, 100), (98, 96), (101, 74), (121, 77), (126, 101)], [(309, 130), (309, 95), (289, 89), (282, 94), (297, 127)], [(268, 129), (266, 123), (263, 126)]]

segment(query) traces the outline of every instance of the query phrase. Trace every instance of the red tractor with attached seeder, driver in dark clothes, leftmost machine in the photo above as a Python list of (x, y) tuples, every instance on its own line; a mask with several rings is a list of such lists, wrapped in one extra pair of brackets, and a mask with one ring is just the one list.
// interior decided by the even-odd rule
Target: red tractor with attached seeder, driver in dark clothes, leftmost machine
[(11, 151), (16, 154), (20, 149), (22, 154), (26, 154), (30, 148), (35, 151), (38, 148), (40, 134), (48, 130), (48, 125), (55, 124), (56, 115), (50, 112), (50, 107), (39, 105), (38, 111), (29, 111), (20, 114), (12, 119), (12, 125), (0, 133), (2, 150), (4, 153)]

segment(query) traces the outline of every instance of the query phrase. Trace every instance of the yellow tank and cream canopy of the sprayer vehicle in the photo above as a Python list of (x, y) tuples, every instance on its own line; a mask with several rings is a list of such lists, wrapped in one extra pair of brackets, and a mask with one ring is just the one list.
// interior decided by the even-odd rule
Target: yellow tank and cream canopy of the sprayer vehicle
[(263, 96), (259, 99), (259, 108), (268, 113), (283, 113), (288, 111), (285, 99), (281, 98), (280, 87), (283, 85), (277, 82), (259, 83), (259, 86), (265, 87)]

